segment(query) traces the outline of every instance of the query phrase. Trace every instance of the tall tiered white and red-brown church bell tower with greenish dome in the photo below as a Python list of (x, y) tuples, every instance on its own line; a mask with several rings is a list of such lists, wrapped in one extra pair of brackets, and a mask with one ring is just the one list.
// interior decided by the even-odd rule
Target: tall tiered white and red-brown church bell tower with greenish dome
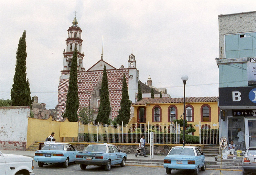
[(68, 29), (68, 38), (66, 39), (66, 51), (63, 52), (63, 70), (70, 70), (71, 61), (73, 58), (73, 52), (77, 48), (77, 69), (81, 71), (83, 69), (83, 57), (84, 53), (82, 52), (82, 42), (81, 39), (81, 28), (77, 25), (76, 16), (72, 22), (72, 26)]

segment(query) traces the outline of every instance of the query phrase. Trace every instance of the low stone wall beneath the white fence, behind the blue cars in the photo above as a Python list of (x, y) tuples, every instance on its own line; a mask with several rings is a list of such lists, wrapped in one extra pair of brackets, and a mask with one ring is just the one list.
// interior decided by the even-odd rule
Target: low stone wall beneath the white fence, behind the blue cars
[[(78, 151), (82, 151), (88, 144), (91, 143), (71, 143)], [(122, 150), (122, 152), (126, 154), (135, 154), (136, 148), (138, 148), (138, 144), (121, 144), (117, 143), (114, 144), (118, 149)], [(165, 144), (155, 144), (154, 145), (154, 155), (167, 155), (168, 152), (174, 146), (182, 146), (181, 144), (172, 144), (172, 145), (165, 145)], [(186, 145), (187, 146), (187, 145)], [(201, 145), (188, 145), (188, 146), (197, 146), (200, 150), (202, 150)], [(145, 145), (146, 154), (150, 154), (150, 146)]]

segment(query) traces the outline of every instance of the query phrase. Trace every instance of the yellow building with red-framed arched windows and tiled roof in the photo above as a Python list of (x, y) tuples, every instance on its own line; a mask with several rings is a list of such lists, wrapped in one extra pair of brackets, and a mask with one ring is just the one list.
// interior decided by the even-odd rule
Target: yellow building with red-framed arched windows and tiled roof
[[(218, 97), (188, 97), (185, 103), (187, 124), (197, 130), (193, 135), (199, 136), (201, 129), (219, 126)], [(137, 123), (151, 124), (161, 129), (162, 123), (172, 123), (183, 114), (183, 98), (147, 98), (133, 103), (134, 117)], [(199, 125), (199, 122), (201, 125)], [(187, 127), (188, 129), (188, 127)]]

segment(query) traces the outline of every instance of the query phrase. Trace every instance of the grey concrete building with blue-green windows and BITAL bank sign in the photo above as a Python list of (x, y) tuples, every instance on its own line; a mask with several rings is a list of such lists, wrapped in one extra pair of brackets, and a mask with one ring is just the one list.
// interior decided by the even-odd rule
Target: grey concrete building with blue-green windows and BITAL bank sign
[(219, 133), (241, 150), (256, 146), (255, 17), (256, 11), (219, 15)]

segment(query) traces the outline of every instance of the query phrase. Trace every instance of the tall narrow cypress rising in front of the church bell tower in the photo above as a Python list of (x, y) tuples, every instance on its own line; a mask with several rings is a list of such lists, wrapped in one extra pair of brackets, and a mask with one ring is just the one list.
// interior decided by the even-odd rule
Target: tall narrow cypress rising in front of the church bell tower
[(78, 85), (77, 85), (77, 48), (73, 53), (73, 58), (71, 61), (71, 70), (69, 74), (69, 89), (66, 101), (66, 111), (64, 116), (71, 122), (76, 122), (78, 120), (77, 110), (79, 108), (78, 101)]

